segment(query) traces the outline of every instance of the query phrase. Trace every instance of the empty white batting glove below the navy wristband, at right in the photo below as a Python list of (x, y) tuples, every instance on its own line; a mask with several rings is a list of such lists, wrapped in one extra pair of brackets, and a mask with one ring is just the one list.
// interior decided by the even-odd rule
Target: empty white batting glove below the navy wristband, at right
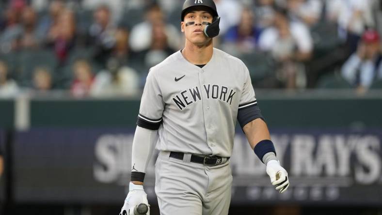
[(267, 174), (271, 178), (271, 183), (276, 187), (276, 190), (280, 190), (280, 193), (286, 191), (289, 186), (288, 173), (280, 166), (278, 160), (268, 161)]

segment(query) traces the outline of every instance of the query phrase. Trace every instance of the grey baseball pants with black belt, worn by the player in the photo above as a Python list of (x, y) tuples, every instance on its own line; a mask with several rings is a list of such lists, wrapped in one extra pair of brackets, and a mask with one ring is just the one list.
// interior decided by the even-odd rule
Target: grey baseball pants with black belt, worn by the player
[[(227, 215), (232, 174), (229, 161), (218, 166), (172, 158), (160, 152), (155, 164), (155, 193), (161, 215)], [(225, 163), (224, 163), (225, 162)]]

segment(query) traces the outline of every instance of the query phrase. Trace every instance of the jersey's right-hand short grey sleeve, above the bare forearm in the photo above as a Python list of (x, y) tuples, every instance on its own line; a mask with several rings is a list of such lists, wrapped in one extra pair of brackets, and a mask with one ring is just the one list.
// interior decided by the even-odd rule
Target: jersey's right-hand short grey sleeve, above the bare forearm
[(244, 66), (244, 83), (243, 92), (241, 93), (239, 110), (238, 110), (238, 121), (242, 127), (251, 121), (261, 118), (260, 108), (257, 105), (257, 100), (255, 98), (255, 91), (252, 86), (251, 77), (249, 76), (248, 68)]

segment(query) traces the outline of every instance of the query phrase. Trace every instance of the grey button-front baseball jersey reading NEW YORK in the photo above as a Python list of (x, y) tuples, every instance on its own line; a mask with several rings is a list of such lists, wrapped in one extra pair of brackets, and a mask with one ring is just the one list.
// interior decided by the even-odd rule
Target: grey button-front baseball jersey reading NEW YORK
[(217, 48), (202, 68), (180, 51), (152, 67), (138, 126), (159, 129), (156, 148), (189, 154), (232, 154), (235, 125), (261, 118), (245, 64)]

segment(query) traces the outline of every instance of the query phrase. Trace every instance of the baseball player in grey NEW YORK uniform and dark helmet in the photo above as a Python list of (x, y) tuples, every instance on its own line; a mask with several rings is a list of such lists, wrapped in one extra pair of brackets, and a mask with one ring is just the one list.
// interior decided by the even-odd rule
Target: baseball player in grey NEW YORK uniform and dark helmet
[(219, 21), (213, 0), (186, 0), (181, 13), (185, 47), (150, 69), (122, 215), (140, 203), (148, 204), (143, 179), (155, 146), (159, 150), (155, 192), (161, 215), (228, 214), (229, 160), (237, 121), (266, 164), (271, 184), (280, 193), (288, 188), (288, 174), (276, 158), (247, 67), (213, 47)]

